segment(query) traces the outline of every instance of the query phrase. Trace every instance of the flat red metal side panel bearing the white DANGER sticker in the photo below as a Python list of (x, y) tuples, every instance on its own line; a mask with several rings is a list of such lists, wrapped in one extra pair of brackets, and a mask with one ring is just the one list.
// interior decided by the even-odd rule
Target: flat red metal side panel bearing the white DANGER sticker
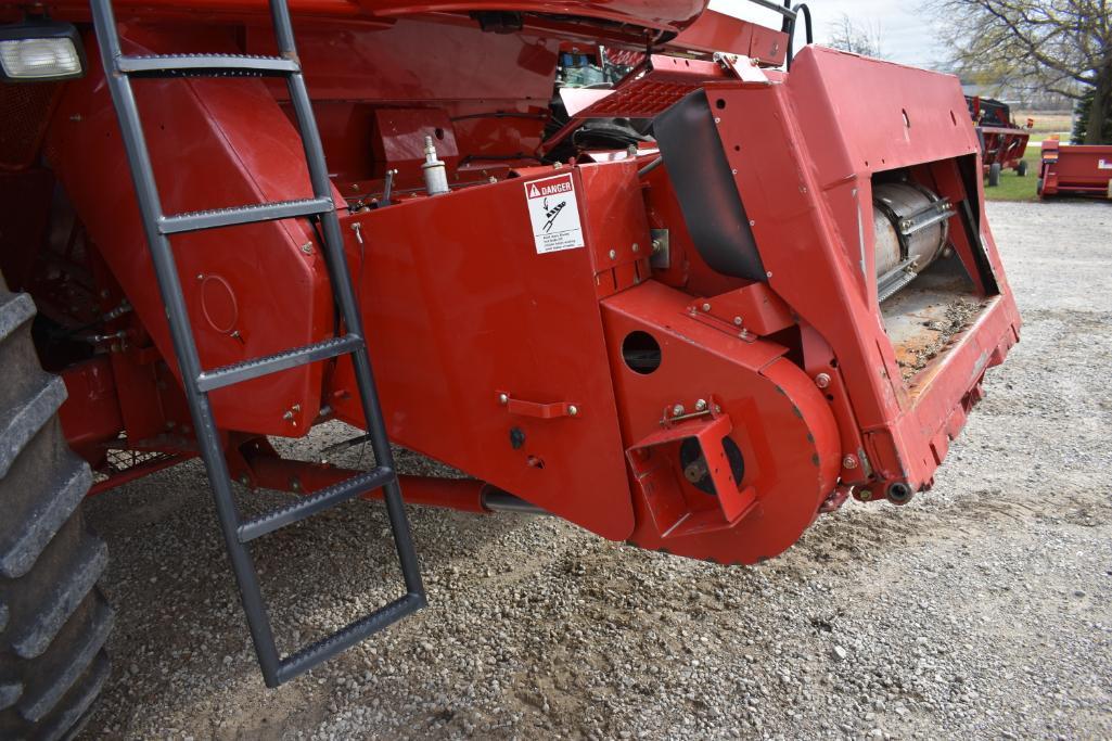
[[(625, 217), (641, 200), (632, 167), (597, 167), (625, 177), (588, 185), (573, 168), (535, 168), (360, 213), (345, 229), (391, 438), (623, 540), (633, 507), (592, 256), (595, 235), (614, 239), (607, 260), (618, 238), (628, 251), (648, 235), (644, 209), (641, 223)], [(358, 422), (347, 362), (334, 388), (337, 413)]]

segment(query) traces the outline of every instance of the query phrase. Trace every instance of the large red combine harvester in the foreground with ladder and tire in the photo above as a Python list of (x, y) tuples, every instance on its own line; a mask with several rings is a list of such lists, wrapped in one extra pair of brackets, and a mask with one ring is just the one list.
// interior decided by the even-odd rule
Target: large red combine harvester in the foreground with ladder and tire
[[(425, 605), (404, 502), (752, 564), (930, 488), (1020, 328), (961, 88), (758, 4), (3, 7), (0, 735), (107, 675), (82, 497), (196, 456), (270, 686)], [(555, 120), (599, 46), (633, 70)], [(268, 442), (334, 419), (374, 468)], [(355, 497), (399, 596), (284, 656), (248, 546)]]

